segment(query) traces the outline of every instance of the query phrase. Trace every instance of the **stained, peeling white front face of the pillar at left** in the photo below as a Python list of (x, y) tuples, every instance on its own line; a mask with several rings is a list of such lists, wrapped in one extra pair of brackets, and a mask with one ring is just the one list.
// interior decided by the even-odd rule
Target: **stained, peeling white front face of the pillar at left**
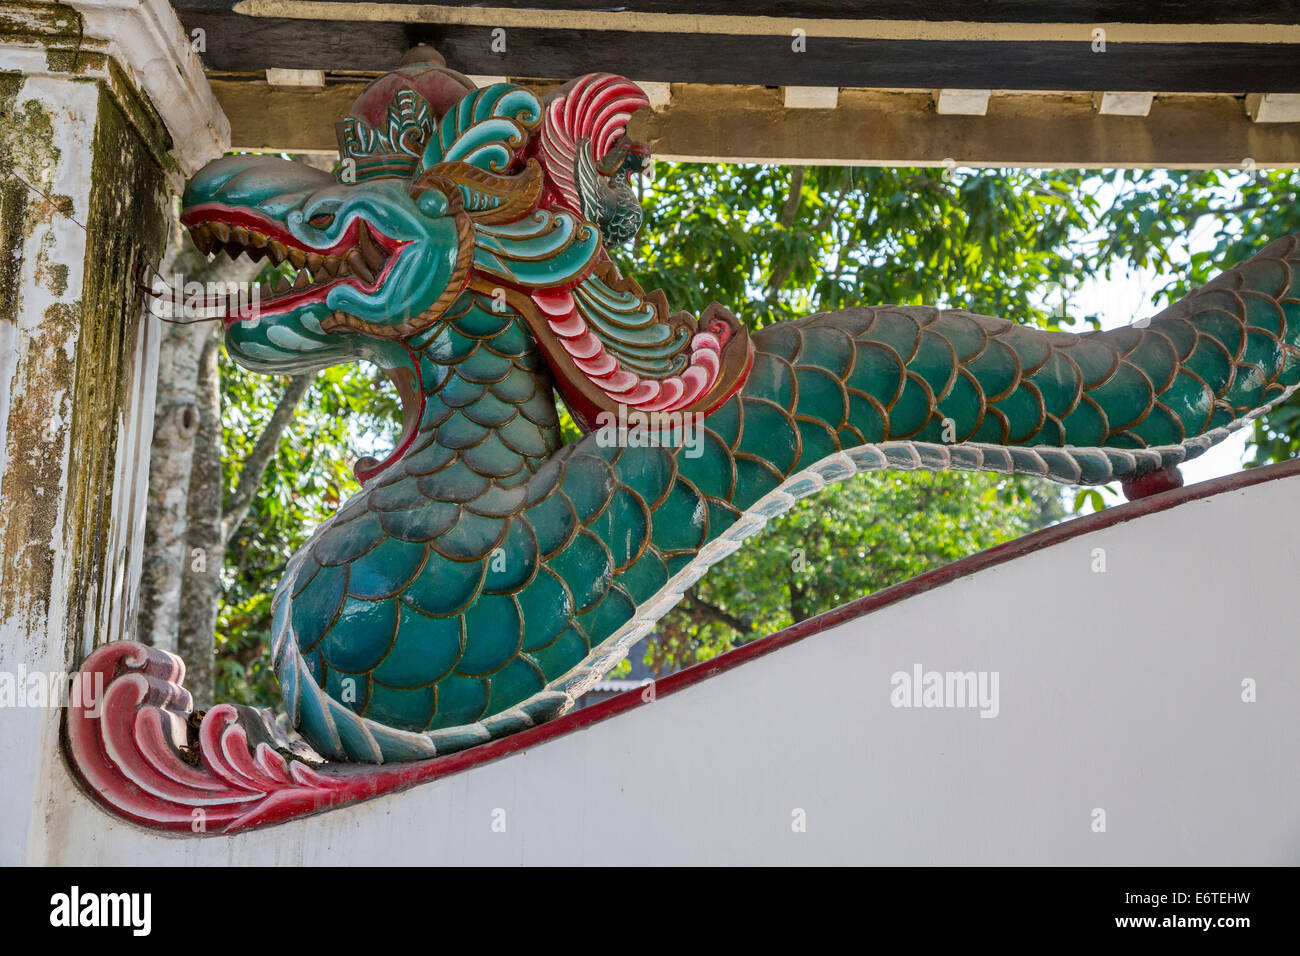
[[(31, 61), (31, 51), (0, 44), (0, 70), (21, 72)], [(90, 83), (31, 75), (16, 104), (27, 109), (32, 101), (47, 112), (51, 138), (46, 155), (38, 152), (44, 144), (30, 144), (34, 157), (20, 163), (20, 174), (40, 173), (40, 187), (68, 196), (73, 217), (84, 222), (98, 91)], [(29, 168), (47, 156), (48, 164)], [(22, 247), (3, 250), (21, 256), (18, 308), (12, 320), (0, 321), (0, 671), (13, 675), (68, 669), (73, 380), (65, 358), (75, 355), (77, 338), (75, 330), (64, 334), (49, 315), (79, 311), (86, 256), (81, 228), (39, 199), (29, 198), (22, 228)], [(65, 284), (51, 282), (56, 264), (68, 267)], [(44, 799), (42, 787), (51, 775), (61, 771), (53, 766), (58, 761), (57, 711), (0, 708), (0, 864), (22, 861), (29, 839), (40, 839), (32, 808)]]

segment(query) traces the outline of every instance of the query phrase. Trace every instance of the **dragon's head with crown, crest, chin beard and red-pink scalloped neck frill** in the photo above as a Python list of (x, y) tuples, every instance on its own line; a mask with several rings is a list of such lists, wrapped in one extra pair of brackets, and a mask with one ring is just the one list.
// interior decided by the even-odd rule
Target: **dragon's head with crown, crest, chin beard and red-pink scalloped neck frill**
[(424, 408), (417, 351), (472, 294), (504, 295), (581, 421), (624, 402), (707, 410), (737, 388), (750, 352), (734, 317), (670, 316), (604, 251), (641, 222), (630, 176), (646, 151), (627, 121), (645, 94), (590, 74), (543, 104), (413, 53), (339, 125), (337, 173), (228, 156), (186, 187), (181, 219), (202, 251), (277, 267), (256, 307), (226, 319), (231, 358), (268, 373), (380, 365), (404, 406), (393, 457)]

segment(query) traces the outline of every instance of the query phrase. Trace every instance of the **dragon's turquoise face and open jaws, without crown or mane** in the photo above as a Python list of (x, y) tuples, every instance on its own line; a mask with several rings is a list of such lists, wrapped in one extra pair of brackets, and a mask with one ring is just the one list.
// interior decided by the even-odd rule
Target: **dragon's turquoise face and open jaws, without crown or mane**
[(472, 248), (459, 194), (433, 182), (343, 183), (266, 156), (207, 165), (185, 193), (195, 245), (281, 267), (252, 316), (228, 320), (230, 355), (255, 371), (300, 372), (359, 356), (364, 339), (332, 333), (400, 339), (426, 325), (464, 289)]

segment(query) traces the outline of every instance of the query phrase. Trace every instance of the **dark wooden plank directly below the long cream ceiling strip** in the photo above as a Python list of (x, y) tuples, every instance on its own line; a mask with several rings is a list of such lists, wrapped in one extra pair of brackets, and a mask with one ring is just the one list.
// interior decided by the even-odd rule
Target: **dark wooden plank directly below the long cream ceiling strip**
[(784, 36), (701, 36), (585, 30), (511, 30), (491, 52), (488, 27), (425, 23), (248, 20), (186, 16), (207, 31), (209, 69), (270, 66), (389, 70), (416, 43), (433, 43), (464, 73), (576, 77), (608, 70), (636, 79), (759, 86), (994, 90), (1300, 92), (1300, 44), (957, 43), (814, 38), (794, 53)]

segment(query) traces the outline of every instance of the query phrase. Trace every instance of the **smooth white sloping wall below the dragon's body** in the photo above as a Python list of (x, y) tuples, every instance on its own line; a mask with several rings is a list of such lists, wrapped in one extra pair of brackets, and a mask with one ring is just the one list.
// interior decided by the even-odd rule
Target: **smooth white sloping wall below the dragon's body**
[[(1295, 865), (1297, 498), (1275, 480), (1070, 540), (495, 763), (231, 838), (118, 822), (58, 763), (44, 858)], [(998, 717), (890, 706), (918, 662), (998, 671)]]

